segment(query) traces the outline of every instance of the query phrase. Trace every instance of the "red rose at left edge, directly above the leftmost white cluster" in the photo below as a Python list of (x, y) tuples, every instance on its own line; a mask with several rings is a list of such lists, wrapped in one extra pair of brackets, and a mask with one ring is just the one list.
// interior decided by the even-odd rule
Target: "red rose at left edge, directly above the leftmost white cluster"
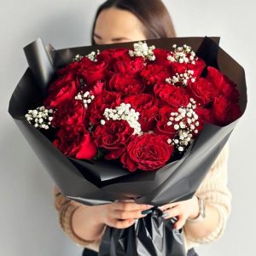
[(44, 100), (44, 106), (57, 108), (63, 102), (69, 102), (77, 95), (78, 90), (73, 75), (68, 73), (49, 85), (49, 96)]

